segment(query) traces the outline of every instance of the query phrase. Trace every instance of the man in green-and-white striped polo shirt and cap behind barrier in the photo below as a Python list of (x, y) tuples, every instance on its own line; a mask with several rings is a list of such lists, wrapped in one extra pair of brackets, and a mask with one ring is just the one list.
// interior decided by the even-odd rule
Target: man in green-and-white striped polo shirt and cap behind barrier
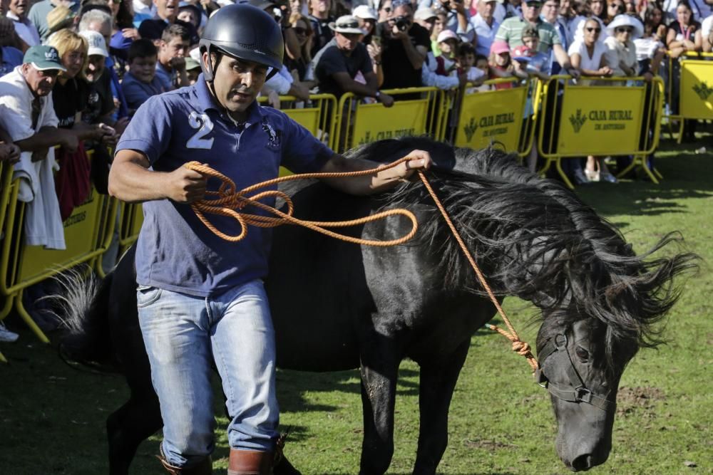
[(523, 16), (508, 18), (503, 21), (503, 24), (498, 28), (498, 33), (496, 33), (496, 40), (506, 41), (511, 49), (515, 48), (515, 46), (523, 44), (522, 33), (525, 26), (534, 26), (540, 36), (538, 51), (545, 54), (550, 54), (550, 51), (552, 51), (563, 71), (574, 77), (579, 77), (578, 71), (570, 63), (567, 51), (562, 47), (562, 41), (560, 41), (557, 31), (552, 25), (540, 18), (541, 6), (540, 0), (523, 0)]

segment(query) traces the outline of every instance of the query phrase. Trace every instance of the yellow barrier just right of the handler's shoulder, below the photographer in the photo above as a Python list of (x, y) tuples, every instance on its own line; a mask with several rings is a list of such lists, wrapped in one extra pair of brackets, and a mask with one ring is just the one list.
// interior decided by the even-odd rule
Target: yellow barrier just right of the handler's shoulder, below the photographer
[[(383, 90), (396, 99), (390, 108), (381, 103), (364, 104), (353, 93), (342, 95), (337, 114), (337, 141), (332, 150), (344, 152), (357, 145), (404, 135), (429, 133), (436, 140), (443, 136), (443, 90), (407, 88)], [(399, 100), (404, 95), (408, 99)]]

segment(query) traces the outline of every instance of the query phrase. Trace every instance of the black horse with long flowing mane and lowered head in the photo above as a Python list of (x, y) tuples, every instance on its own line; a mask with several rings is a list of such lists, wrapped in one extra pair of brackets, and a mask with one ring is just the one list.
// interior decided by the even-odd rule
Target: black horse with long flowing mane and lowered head
[[(602, 464), (625, 365), (640, 347), (658, 343), (654, 324), (678, 296), (673, 278), (694, 268), (696, 256), (654, 259), (653, 252), (677, 239), (673, 235), (637, 256), (575, 194), (497, 150), (454, 151), (409, 138), (376, 142), (351, 155), (389, 161), (414, 148), (429, 150), (446, 167), (455, 159), (461, 171), (434, 169), (429, 178), (498, 298), (518, 296), (541, 310), (538, 376), (549, 385), (560, 459), (575, 471)], [(420, 183), (371, 198), (319, 182), (285, 189), (304, 219), (352, 219), (391, 207), (418, 217), (416, 238), (386, 249), (282, 226), (275, 230), (267, 292), (279, 367), (361, 369), (361, 474), (384, 474), (389, 467), (399, 362), (409, 357), (419, 363), (414, 474), (434, 474), (471, 335), (493, 317), (493, 304)], [(404, 221), (366, 224), (352, 234), (394, 239), (406, 234)], [(126, 474), (138, 444), (162, 426), (138, 328), (133, 253), (98, 288), (73, 292), (66, 353), (80, 361), (113, 360), (131, 389), (130, 400), (107, 421), (111, 474)]]

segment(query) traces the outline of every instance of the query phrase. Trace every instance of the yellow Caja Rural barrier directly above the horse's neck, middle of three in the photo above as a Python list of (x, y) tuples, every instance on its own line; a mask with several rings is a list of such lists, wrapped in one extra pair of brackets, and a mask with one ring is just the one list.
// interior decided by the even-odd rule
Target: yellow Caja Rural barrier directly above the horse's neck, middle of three
[[(484, 84), (519, 82), (518, 78), (502, 78), (486, 80)], [(513, 84), (513, 88), (463, 94), (453, 144), (483, 148), (500, 142), (507, 152), (517, 152), (521, 157), (528, 155), (533, 145), (540, 89), (538, 80), (528, 80), (524, 85)], [(533, 110), (526, 110), (528, 104), (533, 105)]]

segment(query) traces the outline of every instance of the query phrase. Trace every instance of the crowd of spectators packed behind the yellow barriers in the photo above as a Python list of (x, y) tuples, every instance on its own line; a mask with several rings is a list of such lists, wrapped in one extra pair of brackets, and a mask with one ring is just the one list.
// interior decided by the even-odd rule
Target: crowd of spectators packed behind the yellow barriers
[[(474, 93), (533, 75), (583, 83), (664, 74), (676, 83), (677, 63), (667, 71), (667, 56), (710, 52), (713, 43), (713, 0), (238, 1), (282, 26), (284, 66), (262, 91), (273, 107), (280, 95), (306, 101), (310, 93), (354, 93), (390, 107), (402, 96), (382, 90)], [(93, 167), (110, 162), (145, 100), (195, 83), (202, 28), (230, 3), (0, 1), (0, 160), (16, 162), (27, 178), (21, 199), (37, 208), (31, 244), (63, 248), (61, 219), (86, 198), (90, 177), (101, 182), (86, 150), (104, 157)], [(483, 84), (496, 78), (513, 82)], [(677, 98), (668, 106), (675, 112)], [(689, 137), (693, 131), (687, 126)], [(579, 183), (615, 181), (601, 157), (582, 171), (573, 171)], [(56, 201), (58, 216), (41, 213)]]

